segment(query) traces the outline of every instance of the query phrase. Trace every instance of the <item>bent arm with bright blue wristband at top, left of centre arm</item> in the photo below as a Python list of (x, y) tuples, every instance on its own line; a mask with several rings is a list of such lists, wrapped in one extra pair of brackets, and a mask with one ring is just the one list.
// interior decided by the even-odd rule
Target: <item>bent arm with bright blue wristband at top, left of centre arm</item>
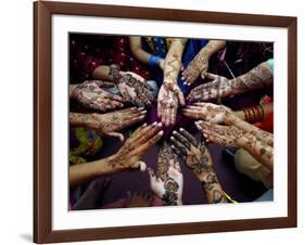
[[(153, 54), (144, 51), (142, 49), (141, 37), (129, 37), (129, 43), (132, 54), (142, 63), (153, 65), (152, 57)], [(156, 59), (156, 56), (155, 56)], [(156, 65), (163, 68), (164, 60), (162, 57), (157, 57), (155, 61)]]

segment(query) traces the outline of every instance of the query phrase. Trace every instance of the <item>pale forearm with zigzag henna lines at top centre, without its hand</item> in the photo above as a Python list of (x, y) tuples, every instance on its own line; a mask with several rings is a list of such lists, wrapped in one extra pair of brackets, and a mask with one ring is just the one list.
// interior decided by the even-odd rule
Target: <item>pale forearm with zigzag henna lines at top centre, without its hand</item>
[(166, 54), (164, 64), (164, 82), (177, 82), (181, 69), (181, 57), (187, 39), (175, 39)]

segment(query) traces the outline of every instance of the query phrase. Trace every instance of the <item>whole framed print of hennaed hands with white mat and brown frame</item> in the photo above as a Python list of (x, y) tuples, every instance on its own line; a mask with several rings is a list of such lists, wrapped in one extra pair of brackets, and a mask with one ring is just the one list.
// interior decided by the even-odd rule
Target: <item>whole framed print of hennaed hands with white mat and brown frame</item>
[(34, 242), (296, 227), (295, 17), (34, 13)]

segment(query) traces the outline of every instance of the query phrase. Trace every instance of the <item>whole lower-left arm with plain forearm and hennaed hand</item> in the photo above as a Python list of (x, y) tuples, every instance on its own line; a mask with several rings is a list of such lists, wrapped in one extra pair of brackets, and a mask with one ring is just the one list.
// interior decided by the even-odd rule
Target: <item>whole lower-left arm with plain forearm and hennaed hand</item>
[(160, 131), (161, 126), (161, 124), (141, 126), (125, 141), (119, 151), (113, 156), (82, 165), (71, 166), (69, 184), (80, 184), (104, 175), (122, 172), (130, 168), (140, 168), (141, 171), (145, 171), (147, 166), (143, 162), (140, 162), (140, 158), (163, 136), (163, 131)]

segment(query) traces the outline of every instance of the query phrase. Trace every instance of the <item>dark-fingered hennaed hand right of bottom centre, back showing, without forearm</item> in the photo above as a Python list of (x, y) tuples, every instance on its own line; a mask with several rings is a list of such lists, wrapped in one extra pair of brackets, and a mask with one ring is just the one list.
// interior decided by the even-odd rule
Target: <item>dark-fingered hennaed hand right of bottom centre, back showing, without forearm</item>
[(173, 151), (182, 159), (193, 173), (203, 181), (213, 170), (212, 158), (204, 142), (199, 142), (186, 129), (174, 131), (170, 137)]

